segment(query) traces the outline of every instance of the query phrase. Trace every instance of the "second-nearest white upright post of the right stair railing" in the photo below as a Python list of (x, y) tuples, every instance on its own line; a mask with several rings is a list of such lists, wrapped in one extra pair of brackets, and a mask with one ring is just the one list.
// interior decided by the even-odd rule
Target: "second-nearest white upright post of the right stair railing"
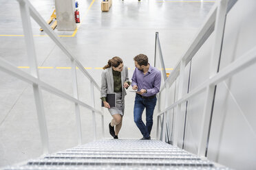
[[(181, 60), (180, 61), (180, 80), (179, 80), (179, 88), (178, 88), (178, 100), (182, 99), (182, 94), (183, 94), (183, 84), (184, 84), (184, 71), (185, 71), (185, 61)], [(178, 108), (177, 108), (177, 113), (174, 114), (175, 118), (173, 121), (173, 145), (177, 146), (178, 145), (178, 132), (179, 132), (179, 118), (180, 118), (180, 114), (181, 114), (181, 104), (178, 104)]]

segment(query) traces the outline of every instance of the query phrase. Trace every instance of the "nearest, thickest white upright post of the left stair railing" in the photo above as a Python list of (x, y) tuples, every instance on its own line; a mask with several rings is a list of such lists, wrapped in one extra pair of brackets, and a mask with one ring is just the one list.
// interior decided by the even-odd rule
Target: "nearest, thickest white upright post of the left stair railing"
[[(21, 19), (23, 25), (23, 32), (25, 34), (25, 43), (28, 53), (28, 60), (30, 64), (30, 74), (39, 79), (39, 72), (37, 69), (36, 52), (34, 48), (34, 39), (32, 35), (32, 26), (30, 21), (30, 10), (26, 0), (19, 0), (19, 7), (21, 10)], [(39, 121), (39, 130), (41, 135), (41, 142), (43, 147), (43, 154), (49, 153), (49, 142), (47, 125), (45, 121), (45, 110), (43, 107), (43, 98), (41, 88), (38, 84), (33, 84), (34, 100), (36, 104), (37, 119)]]

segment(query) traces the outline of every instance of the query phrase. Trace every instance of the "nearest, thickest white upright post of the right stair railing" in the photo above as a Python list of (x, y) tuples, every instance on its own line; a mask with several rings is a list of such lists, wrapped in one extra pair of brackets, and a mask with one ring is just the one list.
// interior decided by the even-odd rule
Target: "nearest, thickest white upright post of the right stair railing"
[[(224, 36), (224, 27), (226, 22), (226, 10), (228, 6), (228, 0), (222, 0), (219, 2), (215, 20), (214, 29), (214, 44), (211, 53), (211, 67), (210, 67), (210, 77), (216, 75), (219, 63), (220, 55), (222, 51), (222, 42)], [(206, 101), (204, 103), (204, 112), (202, 114), (202, 125), (200, 132), (200, 143), (198, 145), (198, 156), (206, 156), (206, 147), (209, 137), (210, 130), (210, 119), (213, 110), (213, 100), (215, 94), (215, 86), (206, 87)]]

